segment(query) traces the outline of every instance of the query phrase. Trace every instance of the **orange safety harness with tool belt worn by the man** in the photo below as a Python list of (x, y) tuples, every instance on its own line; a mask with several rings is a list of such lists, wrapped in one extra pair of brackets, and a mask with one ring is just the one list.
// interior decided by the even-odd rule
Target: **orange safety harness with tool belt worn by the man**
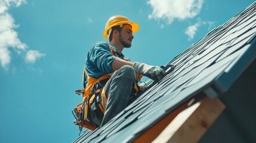
[[(106, 42), (107, 43), (107, 42)], [(116, 53), (116, 49), (113, 48), (112, 45), (109, 45), (110, 51), (113, 55), (118, 57)], [(130, 59), (123, 58), (123, 60), (129, 61)], [(81, 131), (82, 128), (87, 128), (90, 130), (95, 130), (97, 126), (88, 120), (88, 112), (91, 110), (92, 106), (95, 106), (94, 103), (97, 103), (97, 106), (100, 108), (101, 114), (105, 113), (107, 97), (105, 94), (105, 88), (107, 81), (110, 79), (111, 75), (114, 71), (110, 74), (104, 74), (98, 79), (89, 76), (87, 70), (84, 68), (83, 80), (85, 80), (85, 76), (87, 76), (87, 85), (81, 90), (76, 90), (76, 94), (83, 96), (83, 102), (76, 105), (76, 107), (72, 110), (73, 116), (75, 117), (74, 124), (79, 126), (79, 130)], [(132, 95), (136, 95), (137, 92), (140, 90), (138, 86), (138, 82), (141, 80), (142, 75), (135, 74), (136, 76), (136, 83), (134, 84), (134, 89), (132, 90)], [(84, 83), (84, 81), (83, 81)]]

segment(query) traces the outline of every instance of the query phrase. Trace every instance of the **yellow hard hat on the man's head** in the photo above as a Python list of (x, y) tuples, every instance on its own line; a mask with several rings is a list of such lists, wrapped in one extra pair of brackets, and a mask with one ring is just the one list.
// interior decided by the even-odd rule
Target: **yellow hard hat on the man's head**
[(129, 19), (127, 17), (122, 16), (122, 15), (116, 15), (116, 16), (113, 16), (113, 17), (109, 18), (109, 20), (107, 20), (105, 30), (103, 32), (103, 37), (106, 38), (106, 39), (109, 39), (107, 37), (107, 35), (108, 35), (107, 32), (109, 32), (109, 29), (112, 28), (113, 26), (118, 26), (118, 25), (121, 25), (121, 24), (131, 25), (132, 33), (135, 33), (135, 32), (138, 31), (138, 29), (140, 29), (140, 26), (138, 26), (137, 23), (129, 21)]

